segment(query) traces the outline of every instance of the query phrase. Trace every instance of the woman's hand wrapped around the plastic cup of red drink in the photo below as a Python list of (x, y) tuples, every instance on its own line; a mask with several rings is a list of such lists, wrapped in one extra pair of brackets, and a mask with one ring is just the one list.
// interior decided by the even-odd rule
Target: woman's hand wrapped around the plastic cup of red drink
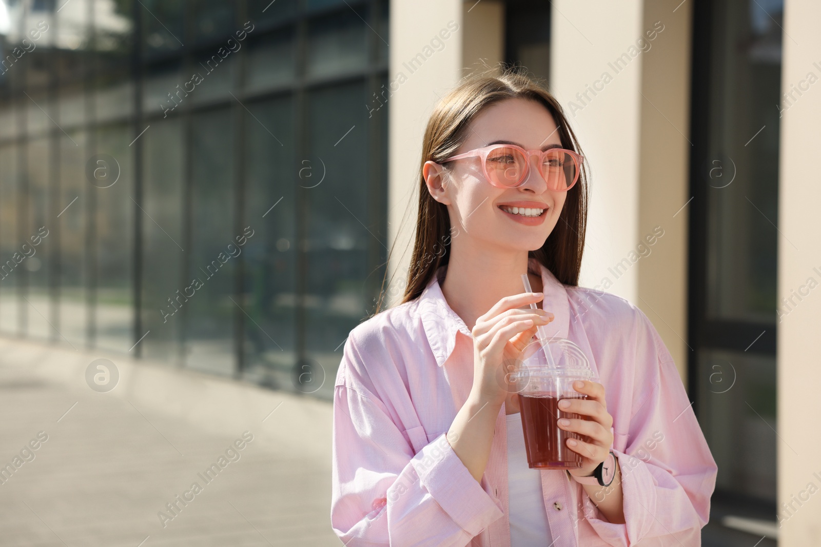
[(558, 426), (565, 431), (585, 435), (591, 440), (589, 443), (576, 439), (566, 440), (567, 447), (582, 456), (581, 467), (569, 472), (575, 476), (590, 476), (595, 468), (599, 467), (599, 463), (607, 458), (612, 447), (613, 435), (610, 427), (613, 425), (613, 418), (608, 413), (608, 406), (604, 400), (603, 385), (577, 380), (573, 382), (573, 389), (587, 395), (588, 399), (562, 399), (559, 401), (559, 409), (589, 419), (560, 418)]

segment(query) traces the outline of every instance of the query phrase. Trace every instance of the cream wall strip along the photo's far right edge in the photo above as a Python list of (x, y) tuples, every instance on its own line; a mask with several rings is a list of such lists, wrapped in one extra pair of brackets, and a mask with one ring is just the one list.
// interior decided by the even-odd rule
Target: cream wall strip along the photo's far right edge
[[(785, 2), (782, 92), (791, 91), (792, 86), (804, 91), (800, 96), (794, 92), (790, 103), (782, 101), (779, 307), (792, 291), (805, 295), (800, 301), (793, 299), (796, 305), (777, 326), (778, 514), (782, 522), (778, 545), (782, 547), (819, 545), (821, 541), (821, 494), (817, 493), (821, 488), (821, 289), (815, 286), (821, 281), (821, 175), (816, 161), (821, 148), (819, 21), (819, 2)], [(814, 79), (808, 78), (810, 73)], [(808, 283), (810, 278), (815, 285)], [(810, 483), (814, 490), (808, 489)], [(790, 503), (795, 510), (782, 506)]]

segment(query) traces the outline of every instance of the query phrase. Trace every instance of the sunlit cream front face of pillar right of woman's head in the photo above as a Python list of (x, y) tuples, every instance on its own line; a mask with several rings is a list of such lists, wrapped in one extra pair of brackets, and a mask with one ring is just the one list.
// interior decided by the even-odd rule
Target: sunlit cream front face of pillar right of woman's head
[[(550, 88), (591, 167), (588, 230), (580, 284), (609, 277), (608, 292), (636, 300), (637, 268), (608, 272), (638, 244), (641, 55), (618, 74), (608, 65), (640, 37), (639, 2), (553, 2)], [(612, 80), (604, 84), (602, 75)], [(597, 85), (600, 90), (589, 91)], [(584, 93), (587, 93), (587, 98)], [(577, 94), (578, 93), (578, 94)]]

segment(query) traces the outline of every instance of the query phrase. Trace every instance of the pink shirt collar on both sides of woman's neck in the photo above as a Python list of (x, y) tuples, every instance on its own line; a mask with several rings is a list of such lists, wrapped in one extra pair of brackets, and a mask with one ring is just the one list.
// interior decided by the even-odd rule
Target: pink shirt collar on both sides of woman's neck
[[(530, 271), (541, 272), (544, 287), (543, 309), (552, 312), (554, 316), (553, 321), (544, 327), (546, 334), (549, 337), (567, 338), (570, 326), (570, 304), (567, 301), (565, 286), (556, 279), (556, 276), (553, 276), (553, 272), (535, 258), (528, 259), (528, 267)], [(468, 338), (471, 337), (465, 321), (462, 321), (461, 317), (451, 309), (442, 293), (439, 280), (443, 279), (446, 271), (447, 265), (438, 268), (420, 294), (418, 308), (424, 333), (439, 367), (443, 366), (453, 352), (456, 346), (456, 333), (461, 332)], [(524, 287), (522, 292), (524, 292)]]

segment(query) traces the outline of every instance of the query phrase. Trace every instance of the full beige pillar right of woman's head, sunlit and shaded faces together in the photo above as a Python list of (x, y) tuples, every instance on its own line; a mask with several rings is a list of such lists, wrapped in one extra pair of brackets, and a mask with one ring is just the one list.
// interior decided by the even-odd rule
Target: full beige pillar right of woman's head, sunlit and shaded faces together
[(591, 11), (557, 0), (550, 74), (591, 166), (580, 284), (641, 308), (682, 381), (687, 207), (678, 210), (689, 198), (690, 7), (673, 12), (648, 0)]

